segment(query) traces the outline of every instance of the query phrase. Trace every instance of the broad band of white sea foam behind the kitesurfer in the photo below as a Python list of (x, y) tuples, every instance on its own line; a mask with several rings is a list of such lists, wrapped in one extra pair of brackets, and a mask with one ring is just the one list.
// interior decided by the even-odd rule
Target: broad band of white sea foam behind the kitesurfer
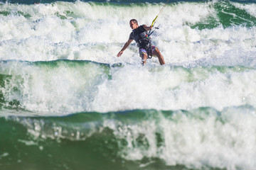
[[(166, 6), (156, 21), (155, 26), (161, 24), (160, 29), (152, 35), (153, 44), (161, 50), (166, 64), (187, 66), (205, 59), (213, 63), (203, 64), (215, 64), (214, 59), (227, 56), (231, 60), (233, 56), (252, 59), (256, 52), (255, 27), (223, 28), (220, 25), (203, 30), (190, 27), (208, 17), (218, 21), (213, 3)], [(139, 24), (150, 25), (162, 6), (163, 4), (100, 5), (80, 1), (40, 5), (4, 4), (1, 11), (11, 14), (0, 18), (0, 60), (139, 62), (135, 43), (132, 43), (122, 57), (116, 57), (132, 31), (129, 20), (137, 18)], [(239, 8), (246, 8), (248, 13), (252, 13), (250, 11), (255, 6)], [(227, 60), (224, 62), (225, 65), (233, 65)], [(149, 60), (150, 63), (158, 63), (158, 60), (154, 58)]]

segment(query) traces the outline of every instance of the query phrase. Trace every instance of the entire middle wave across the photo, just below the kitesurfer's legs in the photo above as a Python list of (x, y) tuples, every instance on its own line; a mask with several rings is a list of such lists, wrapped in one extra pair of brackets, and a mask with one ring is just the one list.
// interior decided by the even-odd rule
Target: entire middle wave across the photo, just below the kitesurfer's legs
[[(40, 115), (189, 110), (255, 103), (255, 67), (141, 67), (90, 61), (0, 62), (2, 108)], [(136, 75), (136, 76), (134, 76)]]

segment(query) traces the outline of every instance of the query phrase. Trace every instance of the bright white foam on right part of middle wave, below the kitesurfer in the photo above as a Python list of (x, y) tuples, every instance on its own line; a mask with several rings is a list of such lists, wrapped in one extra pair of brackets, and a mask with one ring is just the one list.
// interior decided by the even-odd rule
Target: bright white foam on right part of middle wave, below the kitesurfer
[(208, 106), (222, 110), (244, 104), (256, 106), (253, 95), (256, 82), (252, 78), (255, 75), (255, 70), (221, 73), (194, 69), (187, 72), (165, 67), (149, 72), (127, 67), (115, 72), (112, 80), (99, 86), (92, 108), (96, 111), (110, 111), (112, 108), (189, 110)]

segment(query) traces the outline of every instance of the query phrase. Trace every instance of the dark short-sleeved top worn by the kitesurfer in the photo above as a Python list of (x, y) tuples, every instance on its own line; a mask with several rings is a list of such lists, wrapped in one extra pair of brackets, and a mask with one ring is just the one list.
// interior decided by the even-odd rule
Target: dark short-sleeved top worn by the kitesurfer
[(132, 30), (132, 33), (129, 35), (129, 40), (135, 40), (139, 48), (147, 50), (150, 47), (148, 33), (143, 26)]

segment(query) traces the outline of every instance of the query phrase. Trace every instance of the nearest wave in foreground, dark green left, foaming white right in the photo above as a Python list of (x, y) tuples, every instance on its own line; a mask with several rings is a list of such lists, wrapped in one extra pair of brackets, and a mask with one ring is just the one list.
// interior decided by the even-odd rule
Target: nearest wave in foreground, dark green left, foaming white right
[[(78, 145), (80, 149), (72, 147), (72, 161), (66, 162), (70, 169), (73, 161), (84, 166), (87, 160), (94, 159), (93, 153), (110, 164), (114, 160), (124, 166), (124, 162), (132, 161), (135, 169), (154, 169), (161, 161), (169, 169), (253, 169), (256, 164), (255, 108), (250, 106), (225, 108), (223, 112), (198, 108), (77, 113), (64, 117), (9, 116), (0, 121), (2, 130), (16, 134), (11, 138), (11, 133), (4, 135), (5, 141), (23, 147), (28, 157), (31, 151), (38, 150), (41, 154), (36, 157), (42, 159), (46, 150), (54, 156), (63, 153), (64, 159), (70, 152), (68, 146)], [(51, 147), (55, 149), (50, 150)], [(15, 158), (17, 153), (6, 154)], [(50, 162), (51, 167), (56, 164)]]

